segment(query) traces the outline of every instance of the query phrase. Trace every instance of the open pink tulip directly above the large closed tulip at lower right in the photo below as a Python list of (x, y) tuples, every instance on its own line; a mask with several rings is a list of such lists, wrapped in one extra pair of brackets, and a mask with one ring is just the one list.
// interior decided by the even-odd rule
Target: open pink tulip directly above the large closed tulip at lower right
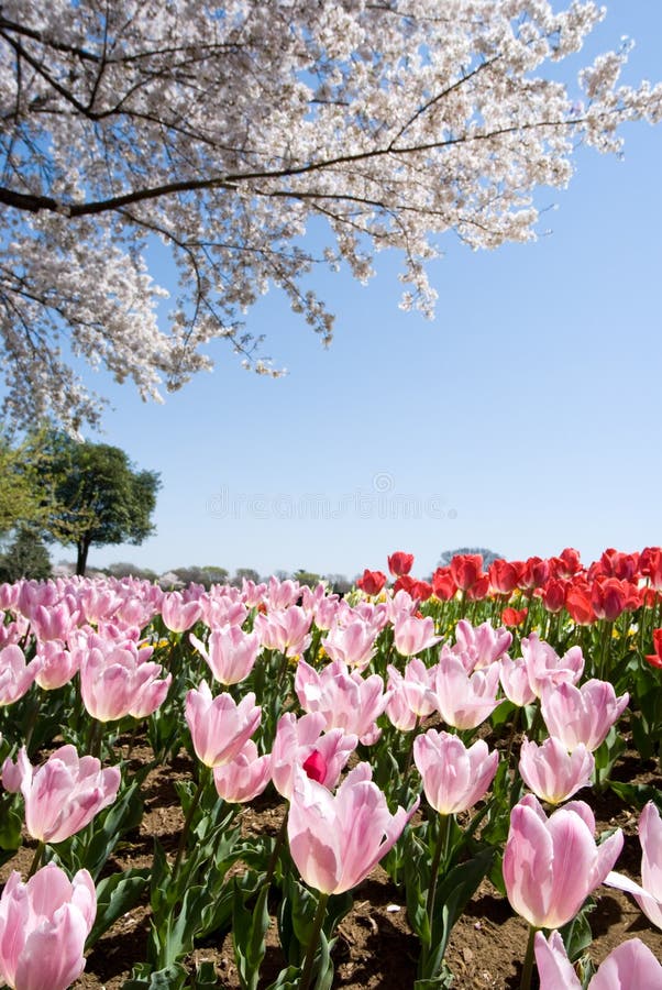
[(572, 754), (553, 736), (542, 746), (522, 740), (519, 772), (529, 790), (541, 801), (561, 804), (581, 788), (591, 784), (595, 767), (593, 754), (580, 744)]

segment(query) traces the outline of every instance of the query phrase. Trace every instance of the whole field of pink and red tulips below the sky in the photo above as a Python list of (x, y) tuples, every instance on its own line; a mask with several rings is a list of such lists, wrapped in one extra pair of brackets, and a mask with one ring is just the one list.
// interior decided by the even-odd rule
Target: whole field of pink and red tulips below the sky
[(0, 585), (0, 986), (662, 988), (662, 549), (387, 564)]

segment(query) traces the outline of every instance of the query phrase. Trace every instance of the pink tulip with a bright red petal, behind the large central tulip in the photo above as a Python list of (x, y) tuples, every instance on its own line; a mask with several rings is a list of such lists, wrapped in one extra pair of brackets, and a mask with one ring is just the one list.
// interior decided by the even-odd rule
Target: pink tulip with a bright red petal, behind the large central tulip
[(324, 733), (327, 719), (321, 712), (311, 712), (297, 718), (287, 712), (278, 719), (276, 738), (272, 747), (272, 780), (279, 794), (288, 801), (291, 796), (295, 771), (315, 754), (315, 779), (326, 788), (334, 788), (340, 774), (356, 749), (358, 739), (345, 735), (341, 728)]

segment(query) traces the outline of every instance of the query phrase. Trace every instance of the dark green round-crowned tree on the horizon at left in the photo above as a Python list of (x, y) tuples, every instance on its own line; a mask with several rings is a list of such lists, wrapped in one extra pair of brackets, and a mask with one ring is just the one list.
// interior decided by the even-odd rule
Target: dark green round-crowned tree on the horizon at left
[(63, 432), (51, 432), (46, 446), (45, 530), (48, 539), (76, 547), (77, 574), (85, 574), (90, 547), (137, 544), (152, 536), (157, 472), (137, 470), (119, 447), (81, 443)]

